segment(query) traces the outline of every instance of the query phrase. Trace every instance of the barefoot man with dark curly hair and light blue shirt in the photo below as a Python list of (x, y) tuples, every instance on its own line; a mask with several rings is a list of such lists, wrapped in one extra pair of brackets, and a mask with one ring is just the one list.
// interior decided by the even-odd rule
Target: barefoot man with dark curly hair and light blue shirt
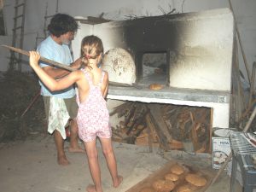
[[(66, 14), (54, 15), (48, 26), (49, 37), (45, 38), (38, 45), (39, 54), (49, 60), (78, 68), (80, 59), (73, 62), (68, 46), (77, 30), (78, 24), (72, 16)], [(65, 69), (49, 66), (44, 62), (41, 62), (40, 66), (55, 79), (61, 79), (69, 73)], [(69, 152), (84, 152), (78, 144), (78, 125), (76, 122), (78, 105), (76, 103), (75, 90), (72, 86), (66, 90), (51, 92), (42, 82), (39, 83), (41, 85), (41, 95), (44, 98), (44, 108), (48, 119), (48, 131), (49, 133), (54, 133), (55, 137), (57, 162), (59, 165), (66, 166), (69, 164), (69, 161), (64, 152), (64, 139), (66, 138), (65, 125), (67, 125), (68, 119), (70, 125), (70, 147), (68, 150)]]

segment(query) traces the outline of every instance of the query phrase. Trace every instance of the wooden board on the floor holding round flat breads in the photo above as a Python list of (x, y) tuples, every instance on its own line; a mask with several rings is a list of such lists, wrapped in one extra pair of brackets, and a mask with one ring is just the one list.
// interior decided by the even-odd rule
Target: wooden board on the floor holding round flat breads
[(174, 166), (175, 164), (183, 166), (185, 168), (185, 172), (179, 176), (180, 178), (176, 183), (174, 182), (176, 184), (176, 187), (172, 191), (176, 191), (178, 186), (181, 186), (181, 185), (187, 183), (185, 181), (186, 174), (195, 173), (195, 172), (200, 173), (201, 176), (207, 178), (207, 184), (203, 187), (196, 187), (193, 185), (193, 187), (192, 187), (193, 191), (204, 192), (207, 190), (207, 188), (209, 187), (209, 185), (212, 181), (212, 177), (214, 177), (214, 174), (212, 172), (209, 172), (207, 170), (202, 170), (198, 167), (191, 166), (188, 164), (183, 164), (182, 162), (170, 160), (168, 163), (166, 163), (165, 166), (161, 167), (160, 170), (150, 174), (148, 177), (144, 178), (142, 181), (140, 181), (139, 183), (137, 183), (130, 189), (126, 190), (125, 192), (140, 192), (140, 190), (145, 187), (152, 187), (152, 183), (154, 183), (154, 181), (156, 181), (157, 179), (165, 179), (165, 175), (167, 173), (171, 173), (171, 171), (170, 171), (171, 167)]

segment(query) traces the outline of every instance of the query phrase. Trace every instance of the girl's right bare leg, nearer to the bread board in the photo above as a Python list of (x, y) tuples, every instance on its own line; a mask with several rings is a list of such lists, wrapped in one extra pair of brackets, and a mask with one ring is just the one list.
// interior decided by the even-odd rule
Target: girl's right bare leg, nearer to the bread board
[(123, 181), (123, 177), (118, 175), (111, 138), (100, 138), (100, 140), (102, 143), (102, 152), (106, 158), (108, 170), (113, 180), (113, 187), (117, 188), (119, 184)]

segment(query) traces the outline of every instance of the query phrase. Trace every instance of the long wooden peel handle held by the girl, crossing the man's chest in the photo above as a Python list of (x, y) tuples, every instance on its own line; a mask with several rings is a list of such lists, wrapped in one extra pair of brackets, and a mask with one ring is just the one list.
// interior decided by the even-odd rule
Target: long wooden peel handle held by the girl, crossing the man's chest
[[(7, 49), (11, 49), (11, 50), (13, 50), (13, 51), (15, 51), (17, 53), (29, 56), (29, 52), (26, 51), (26, 50), (18, 49), (18, 48), (11, 47), (11, 46), (8, 46), (8, 45), (5, 45), (5, 44), (1, 44), (0, 46), (5, 47)], [(53, 65), (55, 67), (61, 67), (61, 68), (66, 69), (67, 71), (70, 71), (70, 72), (76, 71), (76, 69), (73, 69), (72, 67), (66, 66), (66, 65), (64, 65), (62, 63), (59, 63), (59, 62), (56, 62), (56, 61), (52, 61), (52, 60), (46, 59), (43, 56), (40, 57), (40, 60), (44, 61), (44, 62), (47, 62), (48, 64)]]

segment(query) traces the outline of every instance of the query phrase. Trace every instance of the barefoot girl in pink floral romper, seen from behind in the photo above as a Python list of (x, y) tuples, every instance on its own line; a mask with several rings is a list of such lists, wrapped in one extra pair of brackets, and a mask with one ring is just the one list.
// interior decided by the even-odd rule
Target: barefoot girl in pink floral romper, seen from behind
[(79, 113), (79, 137), (84, 142), (90, 175), (94, 185), (89, 185), (88, 192), (102, 192), (101, 171), (96, 149), (96, 137), (100, 138), (102, 151), (107, 161), (108, 170), (113, 180), (113, 187), (117, 188), (123, 177), (118, 175), (115, 155), (111, 142), (111, 128), (105, 97), (108, 93), (108, 73), (97, 67), (102, 60), (102, 40), (96, 36), (87, 36), (82, 40), (81, 55), (84, 68), (69, 73), (65, 78), (55, 80), (38, 66), (40, 55), (30, 51), (30, 66), (38, 74), (44, 84), (51, 91), (63, 90), (72, 84), (77, 84), (79, 95), (77, 102)]

